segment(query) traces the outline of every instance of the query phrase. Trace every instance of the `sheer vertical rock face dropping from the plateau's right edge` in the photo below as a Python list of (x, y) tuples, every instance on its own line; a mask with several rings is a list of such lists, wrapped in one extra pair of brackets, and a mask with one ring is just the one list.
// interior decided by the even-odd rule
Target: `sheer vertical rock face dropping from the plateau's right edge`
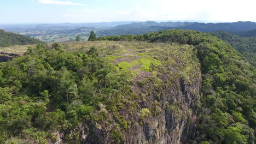
[[(143, 124), (132, 125), (125, 133), (125, 143), (190, 143), (195, 134), (194, 107), (200, 95), (200, 76), (195, 74), (194, 82), (183, 79), (172, 81), (177, 85), (166, 87), (166, 91), (160, 95), (161, 111)], [(154, 101), (154, 97), (149, 95), (144, 107), (154, 109), (154, 104), (149, 102)]]

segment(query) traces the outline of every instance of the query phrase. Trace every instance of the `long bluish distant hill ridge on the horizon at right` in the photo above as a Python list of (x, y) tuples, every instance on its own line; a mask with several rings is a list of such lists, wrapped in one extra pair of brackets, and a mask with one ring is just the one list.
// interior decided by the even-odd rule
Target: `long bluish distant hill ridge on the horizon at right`
[(199, 23), (199, 22), (133, 22), (127, 25), (115, 26), (98, 32), (98, 35), (144, 34), (166, 29), (192, 29), (201, 32), (213, 31), (251, 31), (256, 28), (255, 22), (226, 22), (226, 23)]

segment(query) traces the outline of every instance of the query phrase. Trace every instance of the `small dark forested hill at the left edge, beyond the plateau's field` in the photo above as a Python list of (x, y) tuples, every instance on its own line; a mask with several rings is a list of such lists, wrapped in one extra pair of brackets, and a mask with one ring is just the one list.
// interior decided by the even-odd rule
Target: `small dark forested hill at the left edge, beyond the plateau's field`
[(12, 46), (12, 45), (27, 45), (27, 44), (38, 44), (42, 43), (39, 40), (33, 39), (20, 34), (15, 34), (11, 32), (5, 32), (0, 29), (0, 46)]

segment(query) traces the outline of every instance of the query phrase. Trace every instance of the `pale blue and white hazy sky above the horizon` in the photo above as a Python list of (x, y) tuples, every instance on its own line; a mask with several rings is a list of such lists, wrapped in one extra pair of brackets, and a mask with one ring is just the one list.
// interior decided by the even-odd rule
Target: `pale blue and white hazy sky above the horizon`
[(256, 22), (255, 0), (0, 0), (0, 23)]

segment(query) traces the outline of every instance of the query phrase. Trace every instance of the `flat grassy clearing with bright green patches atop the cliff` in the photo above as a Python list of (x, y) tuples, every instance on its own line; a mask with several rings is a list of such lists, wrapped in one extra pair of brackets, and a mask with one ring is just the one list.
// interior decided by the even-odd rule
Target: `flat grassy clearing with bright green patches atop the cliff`
[[(145, 41), (81, 41), (63, 44), (68, 51), (86, 52), (95, 46), (100, 56), (114, 63), (117, 73), (129, 71), (134, 77), (141, 71), (154, 71), (183, 77), (190, 81), (199, 70), (193, 46), (147, 43)], [(176, 73), (177, 72), (177, 73)]]

